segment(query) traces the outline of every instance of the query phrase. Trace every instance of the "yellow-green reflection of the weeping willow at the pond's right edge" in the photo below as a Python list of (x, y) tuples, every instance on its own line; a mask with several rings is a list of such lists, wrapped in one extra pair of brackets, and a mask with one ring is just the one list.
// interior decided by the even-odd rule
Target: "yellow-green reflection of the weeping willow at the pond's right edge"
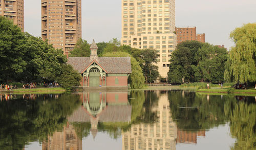
[(256, 103), (254, 97), (236, 96), (225, 102), (231, 135), (237, 138), (231, 149), (256, 149)]

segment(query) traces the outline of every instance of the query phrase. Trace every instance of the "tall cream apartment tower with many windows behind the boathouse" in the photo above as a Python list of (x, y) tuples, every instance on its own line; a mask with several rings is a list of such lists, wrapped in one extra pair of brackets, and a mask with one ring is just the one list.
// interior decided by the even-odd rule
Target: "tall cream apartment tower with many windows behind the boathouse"
[(122, 45), (156, 49), (159, 73), (167, 79), (176, 48), (175, 0), (122, 0)]

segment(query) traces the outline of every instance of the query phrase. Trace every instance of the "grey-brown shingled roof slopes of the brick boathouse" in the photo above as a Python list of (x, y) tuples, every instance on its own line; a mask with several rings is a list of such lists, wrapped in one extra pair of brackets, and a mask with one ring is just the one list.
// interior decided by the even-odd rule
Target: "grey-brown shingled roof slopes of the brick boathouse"
[[(90, 57), (69, 57), (67, 63), (82, 73), (92, 62)], [(98, 64), (108, 73), (132, 73), (130, 57), (99, 57)]]

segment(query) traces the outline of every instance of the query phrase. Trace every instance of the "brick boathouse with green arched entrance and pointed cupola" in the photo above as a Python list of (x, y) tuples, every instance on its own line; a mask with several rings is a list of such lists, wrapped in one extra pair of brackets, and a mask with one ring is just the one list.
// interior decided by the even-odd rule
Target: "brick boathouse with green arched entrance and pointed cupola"
[(84, 88), (127, 89), (132, 73), (130, 57), (98, 57), (93, 40), (90, 57), (68, 57), (68, 64), (81, 73)]

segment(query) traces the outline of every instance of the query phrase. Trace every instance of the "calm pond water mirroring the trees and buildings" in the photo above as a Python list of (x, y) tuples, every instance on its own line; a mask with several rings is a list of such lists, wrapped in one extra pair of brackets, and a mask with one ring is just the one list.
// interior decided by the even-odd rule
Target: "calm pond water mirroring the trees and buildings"
[(256, 97), (166, 90), (0, 100), (0, 149), (256, 148)]

